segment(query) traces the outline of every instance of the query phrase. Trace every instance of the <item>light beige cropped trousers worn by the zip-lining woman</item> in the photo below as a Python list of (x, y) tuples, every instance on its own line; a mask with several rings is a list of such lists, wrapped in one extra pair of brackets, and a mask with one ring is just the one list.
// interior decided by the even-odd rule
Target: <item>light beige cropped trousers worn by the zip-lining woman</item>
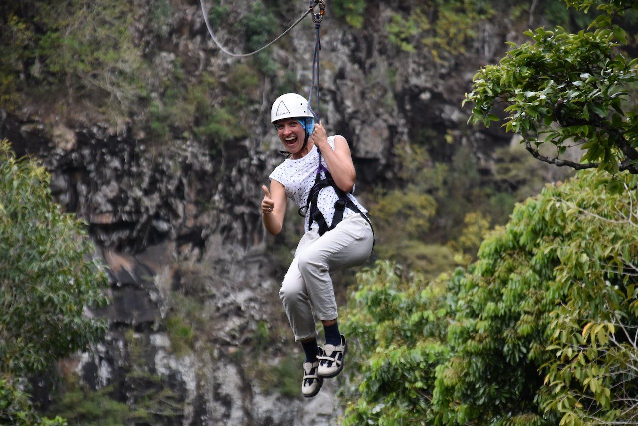
[(359, 214), (348, 216), (323, 236), (315, 230), (302, 236), (279, 289), (295, 341), (316, 336), (313, 307), (322, 321), (337, 317), (330, 273), (363, 264), (373, 242), (372, 229)]

